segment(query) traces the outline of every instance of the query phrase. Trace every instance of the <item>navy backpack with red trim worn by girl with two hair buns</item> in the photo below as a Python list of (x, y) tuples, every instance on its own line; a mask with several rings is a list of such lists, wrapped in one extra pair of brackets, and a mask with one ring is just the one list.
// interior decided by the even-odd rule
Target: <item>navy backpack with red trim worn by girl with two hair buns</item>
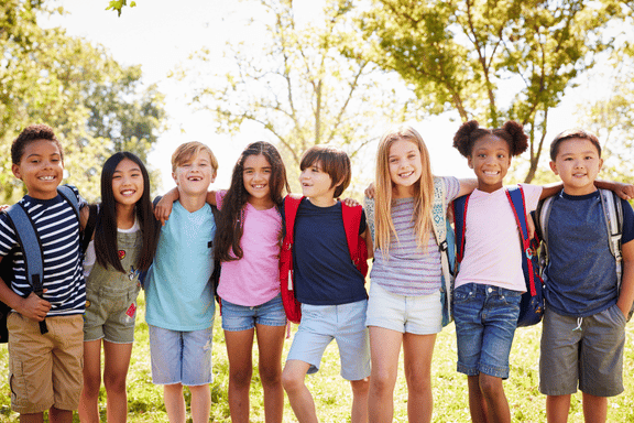
[[(536, 325), (544, 316), (544, 281), (539, 274), (539, 262), (537, 257), (537, 247), (539, 241), (536, 238), (528, 239), (528, 228), (526, 225), (526, 203), (524, 202), (524, 191), (522, 186), (504, 187), (509, 203), (515, 216), (517, 230), (520, 231), (520, 241), (522, 245), (522, 270), (524, 272), (524, 282), (526, 292), (522, 294), (520, 302), (520, 316), (517, 317), (517, 327)], [(467, 223), (467, 206), (469, 195), (456, 198), (453, 200), (453, 218), (456, 227), (456, 259), (462, 261), (464, 256), (464, 227)]]

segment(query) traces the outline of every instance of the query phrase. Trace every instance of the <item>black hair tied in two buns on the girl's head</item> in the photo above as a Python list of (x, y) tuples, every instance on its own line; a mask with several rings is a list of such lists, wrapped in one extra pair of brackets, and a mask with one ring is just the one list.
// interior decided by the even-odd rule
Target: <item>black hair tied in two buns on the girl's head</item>
[(498, 137), (506, 141), (512, 156), (522, 154), (528, 148), (528, 135), (524, 132), (524, 128), (514, 120), (509, 120), (502, 128), (496, 129), (480, 128), (477, 120), (464, 122), (453, 135), (453, 147), (464, 158), (469, 158), (473, 152), (476, 141), (485, 135)]

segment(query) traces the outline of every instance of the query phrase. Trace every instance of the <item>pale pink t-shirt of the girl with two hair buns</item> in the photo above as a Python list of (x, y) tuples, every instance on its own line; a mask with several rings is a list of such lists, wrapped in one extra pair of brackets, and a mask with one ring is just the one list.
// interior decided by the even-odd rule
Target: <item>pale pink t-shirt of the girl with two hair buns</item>
[[(527, 213), (533, 212), (539, 202), (542, 187), (521, 185)], [(456, 288), (480, 283), (526, 291), (520, 232), (504, 188), (493, 193), (473, 191), (467, 206), (464, 241), (464, 257)]]

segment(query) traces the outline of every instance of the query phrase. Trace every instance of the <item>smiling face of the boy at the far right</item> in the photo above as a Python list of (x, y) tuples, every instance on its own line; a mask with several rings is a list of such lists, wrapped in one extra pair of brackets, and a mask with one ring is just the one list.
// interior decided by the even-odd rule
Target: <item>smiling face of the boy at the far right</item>
[(570, 195), (593, 193), (594, 180), (603, 165), (603, 159), (592, 142), (581, 138), (561, 141), (550, 169), (564, 182), (564, 192)]

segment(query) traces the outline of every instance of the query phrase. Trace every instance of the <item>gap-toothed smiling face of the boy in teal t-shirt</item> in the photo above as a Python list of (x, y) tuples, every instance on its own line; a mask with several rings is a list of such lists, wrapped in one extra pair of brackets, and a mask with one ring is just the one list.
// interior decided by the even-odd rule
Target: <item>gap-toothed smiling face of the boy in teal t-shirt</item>
[(179, 163), (176, 170), (172, 172), (172, 177), (182, 197), (207, 195), (209, 184), (216, 178), (211, 156), (206, 151), (196, 153)]

